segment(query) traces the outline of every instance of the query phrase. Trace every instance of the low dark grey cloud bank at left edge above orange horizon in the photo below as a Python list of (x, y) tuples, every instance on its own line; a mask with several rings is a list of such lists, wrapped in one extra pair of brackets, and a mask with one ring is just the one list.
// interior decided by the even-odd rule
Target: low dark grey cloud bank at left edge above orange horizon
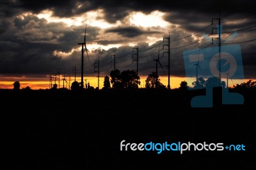
[(0, 46), (1, 73), (44, 73), (49, 72), (56, 63), (60, 63), (60, 58), (50, 57), (49, 54), (44, 52), (45, 49), (51, 49), (50, 45), (49, 47), (44, 45), (44, 48), (42, 48), (35, 45), (35, 43), (17, 45), (1, 42)]

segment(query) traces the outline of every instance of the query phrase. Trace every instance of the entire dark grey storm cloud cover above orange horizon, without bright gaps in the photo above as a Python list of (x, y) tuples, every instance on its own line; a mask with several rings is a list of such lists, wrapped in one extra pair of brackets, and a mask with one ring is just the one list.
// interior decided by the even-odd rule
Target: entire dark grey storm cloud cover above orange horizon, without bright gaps
[[(209, 45), (206, 39), (200, 42), (203, 33), (211, 34), (212, 18), (219, 17), (221, 11), (221, 22), (237, 19), (234, 22), (223, 23), (223, 32), (236, 31), (246, 27), (255, 26), (255, 10), (253, 1), (1, 1), (0, 6), (0, 72), (1, 73), (51, 73), (62, 70), (63, 67), (72, 68), (81, 62), (81, 51), (73, 51), (67, 58), (54, 56), (53, 52), (70, 52), (70, 50), (79, 47), (77, 42), (83, 42), (84, 26), (68, 27), (64, 23), (49, 23), (45, 19), (38, 19), (35, 15), (27, 15), (20, 19), (17, 15), (24, 12), (39, 13), (42, 10), (51, 10), (57, 17), (73, 17), (90, 10), (103, 11), (103, 19), (109, 23), (115, 23), (117, 20), (125, 23), (124, 18), (130, 12), (150, 13), (154, 10), (165, 12), (164, 20), (175, 24), (169, 30), (142, 29), (135, 26), (111, 27), (105, 30), (105, 33), (118, 35), (117, 40), (99, 40), (99, 31), (104, 31), (99, 27), (88, 26), (86, 40), (88, 43), (97, 42), (101, 45), (114, 43), (124, 43), (131, 41), (138, 43), (142, 36), (163, 36), (164, 33), (171, 31), (171, 75), (184, 76), (184, 61), (182, 52), (189, 49), (198, 49)], [(252, 14), (252, 15), (250, 15)], [(239, 19), (239, 17), (247, 16)], [(141, 21), (143, 22), (143, 20)], [(154, 22), (154, 21), (152, 21)], [(209, 27), (207, 27), (209, 26)], [(207, 28), (205, 28), (207, 27)], [(205, 28), (205, 29), (204, 29)], [(201, 30), (201, 31), (200, 31)], [(244, 42), (255, 38), (255, 30), (238, 31), (239, 36), (232, 42)], [(198, 33), (196, 33), (199, 31)], [(193, 36), (186, 37), (196, 33)], [(224, 38), (232, 33), (223, 35)], [(166, 37), (167, 35), (164, 35)], [(144, 38), (145, 38), (144, 37)], [(186, 38), (182, 38), (186, 37)], [(137, 39), (136, 39), (137, 38)], [(177, 40), (180, 39), (180, 40)], [(177, 40), (177, 41), (173, 41)], [(140, 74), (156, 70), (154, 59), (158, 56), (159, 42), (153, 45), (140, 43)], [(244, 72), (248, 77), (255, 77), (255, 42), (241, 43), (242, 53), (244, 54)], [(148, 49), (156, 45), (156, 47)], [(163, 43), (161, 44), (163, 49)], [(89, 49), (90, 50), (90, 49)], [(91, 50), (92, 51), (92, 50)], [(132, 47), (125, 46), (118, 49), (94, 50), (90, 55), (91, 64), (85, 60), (84, 67), (86, 73), (94, 73), (93, 62), (100, 56), (101, 72), (109, 74), (110, 55), (116, 51), (116, 67), (120, 70), (136, 69), (136, 61), (132, 64)], [(167, 75), (166, 65), (168, 58), (163, 56), (164, 50), (160, 52), (160, 61), (165, 72), (159, 67), (161, 75)], [(253, 53), (254, 52), (254, 53)]]

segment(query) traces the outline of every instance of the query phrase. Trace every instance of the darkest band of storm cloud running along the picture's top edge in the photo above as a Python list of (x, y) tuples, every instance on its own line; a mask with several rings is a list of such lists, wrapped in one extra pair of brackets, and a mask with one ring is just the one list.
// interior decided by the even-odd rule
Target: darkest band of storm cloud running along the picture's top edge
[(26, 10), (38, 13), (42, 10), (52, 10), (54, 15), (59, 17), (70, 17), (72, 15), (79, 15), (90, 10), (102, 9), (105, 12), (105, 19), (109, 22), (115, 22), (127, 15), (129, 11), (141, 11), (145, 13), (154, 10), (162, 12), (200, 12), (200, 13), (218, 13), (219, 10), (225, 13), (243, 13), (253, 12), (255, 4), (253, 1), (118, 1), (118, 0), (67, 0), (67, 1), (33, 1), (33, 0), (17, 0), (17, 1), (3, 1), (1, 12), (4, 15), (11, 15), (20, 10)]

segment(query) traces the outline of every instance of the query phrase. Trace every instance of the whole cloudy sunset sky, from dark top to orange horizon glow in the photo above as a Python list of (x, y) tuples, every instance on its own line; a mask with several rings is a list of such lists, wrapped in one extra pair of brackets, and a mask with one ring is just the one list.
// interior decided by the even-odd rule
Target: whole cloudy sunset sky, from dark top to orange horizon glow
[(158, 65), (158, 73), (167, 85), (166, 38), (170, 35), (171, 88), (177, 87), (186, 77), (184, 51), (218, 46), (218, 18), (223, 26), (221, 44), (241, 46), (244, 79), (255, 79), (256, 6), (253, 1), (0, 2), (0, 88), (10, 87), (14, 81), (22, 82), (25, 87), (49, 88), (49, 75), (58, 72), (62, 86), (64, 75), (74, 81), (75, 67), (76, 79), (81, 81), (81, 45), (78, 43), (84, 41), (85, 27), (88, 56), (84, 53), (84, 79), (93, 86), (97, 87), (94, 63), (98, 59), (100, 88), (104, 76), (113, 70), (113, 55), (116, 69), (136, 71), (134, 48), (139, 51), (141, 86), (148, 74), (156, 72), (154, 59), (157, 58), (163, 66)]

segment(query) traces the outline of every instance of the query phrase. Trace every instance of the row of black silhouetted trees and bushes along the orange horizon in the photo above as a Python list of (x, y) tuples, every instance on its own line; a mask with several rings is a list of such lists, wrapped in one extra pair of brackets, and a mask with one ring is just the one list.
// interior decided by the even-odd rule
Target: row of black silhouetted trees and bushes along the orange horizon
[[(110, 76), (106, 75), (104, 77), (102, 89), (138, 89), (140, 82), (140, 76), (137, 75), (134, 70), (125, 70), (120, 72), (120, 70), (112, 70), (110, 72)], [(217, 77), (209, 77), (208, 79), (204, 79), (203, 77), (198, 78), (197, 81), (192, 82), (192, 86), (188, 86), (188, 82), (182, 81), (180, 82), (179, 89), (203, 89), (207, 86), (223, 86), (225, 87), (225, 81), (220, 81)], [(52, 90), (56, 90), (58, 88), (57, 84), (53, 84)], [(148, 75), (145, 80), (145, 88), (147, 89), (166, 89), (166, 86), (161, 83), (159, 79), (159, 75), (156, 72), (152, 72)], [(256, 81), (249, 80), (247, 82), (242, 82), (241, 84), (236, 84), (232, 87), (233, 89), (256, 89)], [(20, 89), (20, 82), (13, 82), (13, 89), (15, 91)], [(29, 86), (24, 89), (30, 90)], [(90, 83), (81, 86), (80, 82), (74, 81), (71, 85), (72, 91), (77, 91), (81, 89), (98, 89), (90, 86)]]

